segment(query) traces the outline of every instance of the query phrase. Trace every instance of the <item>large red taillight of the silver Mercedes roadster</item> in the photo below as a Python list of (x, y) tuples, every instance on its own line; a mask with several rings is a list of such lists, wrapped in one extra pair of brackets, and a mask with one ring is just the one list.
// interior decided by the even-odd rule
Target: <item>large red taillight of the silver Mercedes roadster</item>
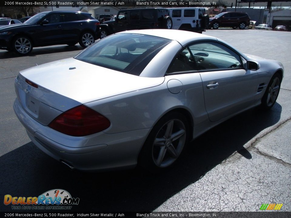
[(70, 136), (91, 135), (109, 126), (106, 117), (84, 105), (65, 111), (49, 124), (50, 128)]

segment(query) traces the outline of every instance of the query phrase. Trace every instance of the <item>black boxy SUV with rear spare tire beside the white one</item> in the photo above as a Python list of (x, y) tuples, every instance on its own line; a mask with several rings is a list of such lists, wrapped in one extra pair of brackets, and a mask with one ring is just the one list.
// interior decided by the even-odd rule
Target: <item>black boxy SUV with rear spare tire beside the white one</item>
[(100, 38), (134, 29), (172, 29), (172, 18), (166, 8), (120, 10), (115, 20), (100, 25)]

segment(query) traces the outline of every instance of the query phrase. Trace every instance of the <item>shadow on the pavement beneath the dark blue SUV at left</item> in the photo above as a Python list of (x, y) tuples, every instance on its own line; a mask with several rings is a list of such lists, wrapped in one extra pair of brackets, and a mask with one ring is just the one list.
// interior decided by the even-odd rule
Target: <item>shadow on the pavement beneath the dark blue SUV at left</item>
[[(59, 53), (59, 52), (66, 52), (66, 51), (79, 51), (83, 50), (79, 44), (76, 44), (74, 46), (69, 45), (60, 45), (60, 46), (54, 46), (54, 47), (38, 47), (33, 48), (32, 52), (28, 54), (28, 57), (35, 57), (40, 54), (53, 54), (53, 53)], [(22, 57), (15, 52), (12, 51), (2, 51), (0, 52), (0, 59), (8, 59), (8, 58), (19, 58)]]

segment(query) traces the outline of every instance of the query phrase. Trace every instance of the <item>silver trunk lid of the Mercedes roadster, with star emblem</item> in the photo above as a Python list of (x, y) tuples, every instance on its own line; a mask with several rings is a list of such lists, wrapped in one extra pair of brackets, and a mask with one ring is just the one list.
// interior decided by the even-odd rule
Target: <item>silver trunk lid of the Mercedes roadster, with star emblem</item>
[(139, 77), (68, 58), (20, 71), (17, 80), (15, 90), (24, 110), (48, 125), (72, 107), (158, 86), (164, 78)]

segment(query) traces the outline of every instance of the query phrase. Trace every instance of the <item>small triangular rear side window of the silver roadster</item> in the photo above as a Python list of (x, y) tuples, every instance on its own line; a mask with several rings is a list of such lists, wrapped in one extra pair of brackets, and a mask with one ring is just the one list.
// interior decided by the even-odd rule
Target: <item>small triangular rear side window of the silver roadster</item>
[(168, 69), (167, 74), (194, 70), (197, 70), (196, 64), (193, 61), (192, 55), (188, 48), (186, 48), (176, 55)]

